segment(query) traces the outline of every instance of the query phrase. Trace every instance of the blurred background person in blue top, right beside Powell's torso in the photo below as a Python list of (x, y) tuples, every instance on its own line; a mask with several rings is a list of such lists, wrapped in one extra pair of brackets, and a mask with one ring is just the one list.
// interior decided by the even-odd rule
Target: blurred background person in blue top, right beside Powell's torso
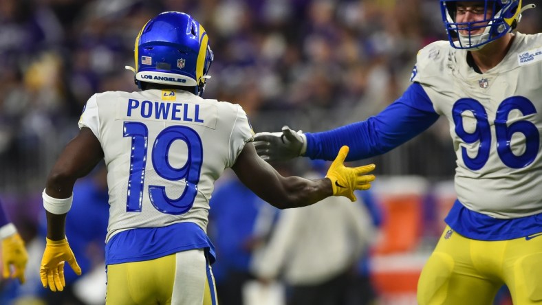
[(219, 304), (242, 305), (243, 286), (255, 279), (250, 269), (254, 252), (265, 244), (279, 210), (234, 175), (222, 179), (209, 201), (208, 231), (217, 253), (213, 275)]

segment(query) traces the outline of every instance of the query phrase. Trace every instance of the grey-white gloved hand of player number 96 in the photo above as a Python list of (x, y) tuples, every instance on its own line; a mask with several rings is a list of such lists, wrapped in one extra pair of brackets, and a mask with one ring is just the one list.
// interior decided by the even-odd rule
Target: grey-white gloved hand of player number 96
[(279, 133), (257, 133), (254, 135), (256, 153), (265, 161), (285, 161), (299, 157), (304, 153), (305, 137), (302, 131), (292, 131), (283, 126)]

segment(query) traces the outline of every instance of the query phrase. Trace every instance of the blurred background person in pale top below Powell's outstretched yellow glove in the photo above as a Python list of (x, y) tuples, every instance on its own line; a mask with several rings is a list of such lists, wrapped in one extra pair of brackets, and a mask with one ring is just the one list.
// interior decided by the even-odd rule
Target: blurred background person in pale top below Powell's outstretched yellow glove
[[(319, 177), (328, 165), (315, 161), (303, 177)], [(283, 280), (287, 304), (345, 305), (354, 269), (374, 236), (371, 216), (359, 202), (330, 197), (284, 210), (254, 272), (263, 283)]]

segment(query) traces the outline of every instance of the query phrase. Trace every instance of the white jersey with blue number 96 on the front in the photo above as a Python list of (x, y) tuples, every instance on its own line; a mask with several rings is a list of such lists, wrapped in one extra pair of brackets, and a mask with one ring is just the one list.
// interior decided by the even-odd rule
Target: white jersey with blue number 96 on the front
[(466, 56), (448, 41), (431, 43), (412, 76), (450, 123), (458, 199), (496, 218), (541, 213), (542, 34), (515, 34), (484, 74)]

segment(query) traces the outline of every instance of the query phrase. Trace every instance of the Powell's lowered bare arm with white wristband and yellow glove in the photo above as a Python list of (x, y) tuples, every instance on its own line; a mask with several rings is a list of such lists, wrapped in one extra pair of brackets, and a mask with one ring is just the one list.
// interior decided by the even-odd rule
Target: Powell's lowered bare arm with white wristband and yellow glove
[(64, 148), (53, 166), (45, 190), (43, 207), (47, 214), (47, 238), (40, 277), (43, 287), (52, 291), (63, 291), (64, 262), (81, 274), (74, 253), (65, 235), (66, 214), (72, 205), (72, 192), (75, 181), (87, 175), (102, 159), (100, 142), (89, 128), (81, 128), (78, 135)]

